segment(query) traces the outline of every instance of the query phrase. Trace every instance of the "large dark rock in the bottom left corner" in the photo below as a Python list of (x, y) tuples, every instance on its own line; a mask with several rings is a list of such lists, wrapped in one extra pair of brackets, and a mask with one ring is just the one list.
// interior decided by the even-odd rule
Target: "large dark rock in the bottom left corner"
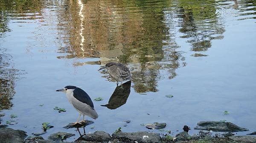
[(15, 130), (6, 128), (0, 125), (0, 141), (1, 143), (25, 143), (26, 132), (22, 130)]

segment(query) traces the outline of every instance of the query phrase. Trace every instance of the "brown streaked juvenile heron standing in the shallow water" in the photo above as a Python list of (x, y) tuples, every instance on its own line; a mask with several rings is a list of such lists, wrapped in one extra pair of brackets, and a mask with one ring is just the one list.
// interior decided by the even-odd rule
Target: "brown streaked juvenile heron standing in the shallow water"
[(121, 87), (123, 81), (131, 81), (130, 70), (128, 69), (128, 67), (125, 67), (125, 65), (121, 63), (109, 62), (99, 70), (105, 68), (108, 70), (111, 78), (116, 80), (116, 86), (118, 86), (118, 81), (121, 82)]

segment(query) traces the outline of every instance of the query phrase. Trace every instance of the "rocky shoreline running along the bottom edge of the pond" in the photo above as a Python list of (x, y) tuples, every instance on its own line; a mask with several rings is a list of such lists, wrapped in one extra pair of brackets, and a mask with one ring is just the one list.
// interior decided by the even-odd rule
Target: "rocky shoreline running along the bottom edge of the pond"
[[(248, 130), (236, 126), (233, 123), (219, 123), (215, 121), (199, 122), (198, 126), (195, 128), (210, 129), (211, 131), (212, 129), (217, 131), (220, 129), (229, 133), (213, 136), (211, 131), (204, 132), (200, 130), (198, 135), (191, 136), (188, 133), (190, 129), (188, 126), (184, 126), (184, 131), (178, 133), (175, 137), (168, 134), (162, 136), (159, 133), (150, 132), (122, 132), (121, 130), (117, 130), (110, 135), (103, 131), (96, 131), (92, 134), (81, 135), (81, 137), (72, 143), (256, 143), (256, 137), (254, 136), (233, 136), (231, 132)], [(64, 140), (72, 136), (75, 136), (75, 134), (57, 132), (49, 135), (47, 139), (41, 136), (28, 137), (25, 131), (11, 129), (6, 125), (0, 125), (0, 143), (71, 143), (65, 142)]]

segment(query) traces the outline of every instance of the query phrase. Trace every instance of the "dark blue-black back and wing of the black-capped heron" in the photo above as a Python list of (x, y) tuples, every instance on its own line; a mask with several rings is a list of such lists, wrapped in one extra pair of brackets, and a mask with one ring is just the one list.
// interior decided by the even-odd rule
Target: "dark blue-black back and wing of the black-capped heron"
[(87, 105), (90, 105), (90, 107), (94, 108), (93, 107), (93, 101), (91, 100), (90, 96), (84, 90), (82, 90), (81, 88), (77, 87), (73, 91), (73, 96), (77, 100), (79, 100), (79, 101), (81, 101), (81, 102), (83, 102), (83, 103), (85, 103)]

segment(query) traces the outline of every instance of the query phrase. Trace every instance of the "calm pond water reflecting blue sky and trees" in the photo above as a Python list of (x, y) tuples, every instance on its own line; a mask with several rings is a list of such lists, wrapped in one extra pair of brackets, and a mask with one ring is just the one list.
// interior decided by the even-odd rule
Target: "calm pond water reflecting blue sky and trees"
[[(255, 39), (255, 0), (0, 0), (2, 124), (14, 114), (10, 127), (28, 135), (49, 122), (55, 127), (43, 137), (78, 138), (62, 128), (78, 112), (55, 92), (76, 85), (104, 99), (93, 101), (99, 118), (87, 133), (165, 122), (175, 135), (183, 125), (224, 119), (254, 132)], [(123, 92), (98, 71), (112, 61), (131, 70)]]

